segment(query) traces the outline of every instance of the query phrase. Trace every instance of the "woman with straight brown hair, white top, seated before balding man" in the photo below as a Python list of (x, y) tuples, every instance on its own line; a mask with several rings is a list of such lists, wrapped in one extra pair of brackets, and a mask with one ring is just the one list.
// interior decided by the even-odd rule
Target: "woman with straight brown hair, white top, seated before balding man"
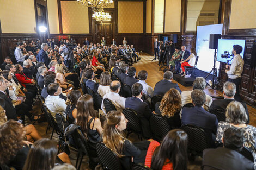
[(98, 93), (103, 97), (110, 90), (111, 76), (109, 72), (103, 72), (100, 75), (100, 86), (98, 88)]

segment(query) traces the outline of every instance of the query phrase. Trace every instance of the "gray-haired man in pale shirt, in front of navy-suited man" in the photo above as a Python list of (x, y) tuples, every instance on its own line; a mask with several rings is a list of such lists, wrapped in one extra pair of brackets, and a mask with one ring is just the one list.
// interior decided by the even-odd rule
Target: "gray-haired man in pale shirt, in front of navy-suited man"
[[(193, 90), (200, 89), (204, 90), (206, 86), (206, 81), (203, 77), (197, 77), (193, 82)], [(182, 91), (181, 93), (181, 106), (183, 107), (185, 104), (191, 103), (191, 92), (192, 91)], [(204, 103), (204, 109), (209, 111), (209, 107), (212, 103), (212, 98), (209, 95), (206, 95), (206, 100)]]

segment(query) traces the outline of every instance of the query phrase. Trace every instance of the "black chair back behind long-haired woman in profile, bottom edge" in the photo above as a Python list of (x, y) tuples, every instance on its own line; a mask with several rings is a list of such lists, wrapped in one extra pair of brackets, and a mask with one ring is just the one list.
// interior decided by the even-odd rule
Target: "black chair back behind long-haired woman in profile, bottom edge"
[(96, 152), (103, 169), (121, 170), (121, 163), (117, 156), (103, 143), (96, 144)]

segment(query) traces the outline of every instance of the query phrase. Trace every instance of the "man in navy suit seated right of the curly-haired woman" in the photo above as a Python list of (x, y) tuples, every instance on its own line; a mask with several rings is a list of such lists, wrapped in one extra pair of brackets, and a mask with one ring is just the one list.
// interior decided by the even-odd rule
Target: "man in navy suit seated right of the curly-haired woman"
[(182, 108), (181, 122), (182, 125), (191, 124), (204, 129), (206, 137), (209, 139), (212, 146), (215, 145), (218, 120), (216, 115), (205, 111), (203, 105), (206, 100), (203, 90), (193, 90), (191, 92), (193, 108)]

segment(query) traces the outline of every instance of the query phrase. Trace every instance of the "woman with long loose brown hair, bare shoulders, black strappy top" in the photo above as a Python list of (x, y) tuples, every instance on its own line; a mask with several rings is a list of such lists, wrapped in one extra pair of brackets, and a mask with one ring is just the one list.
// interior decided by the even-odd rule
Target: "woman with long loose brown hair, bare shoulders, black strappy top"
[[(80, 126), (84, 136), (88, 140), (89, 157), (97, 158), (96, 143), (101, 141), (102, 127), (100, 119), (97, 118), (97, 111), (93, 108), (92, 96), (86, 94), (78, 99), (76, 124)], [(99, 163), (90, 159), (89, 167), (94, 169)]]

